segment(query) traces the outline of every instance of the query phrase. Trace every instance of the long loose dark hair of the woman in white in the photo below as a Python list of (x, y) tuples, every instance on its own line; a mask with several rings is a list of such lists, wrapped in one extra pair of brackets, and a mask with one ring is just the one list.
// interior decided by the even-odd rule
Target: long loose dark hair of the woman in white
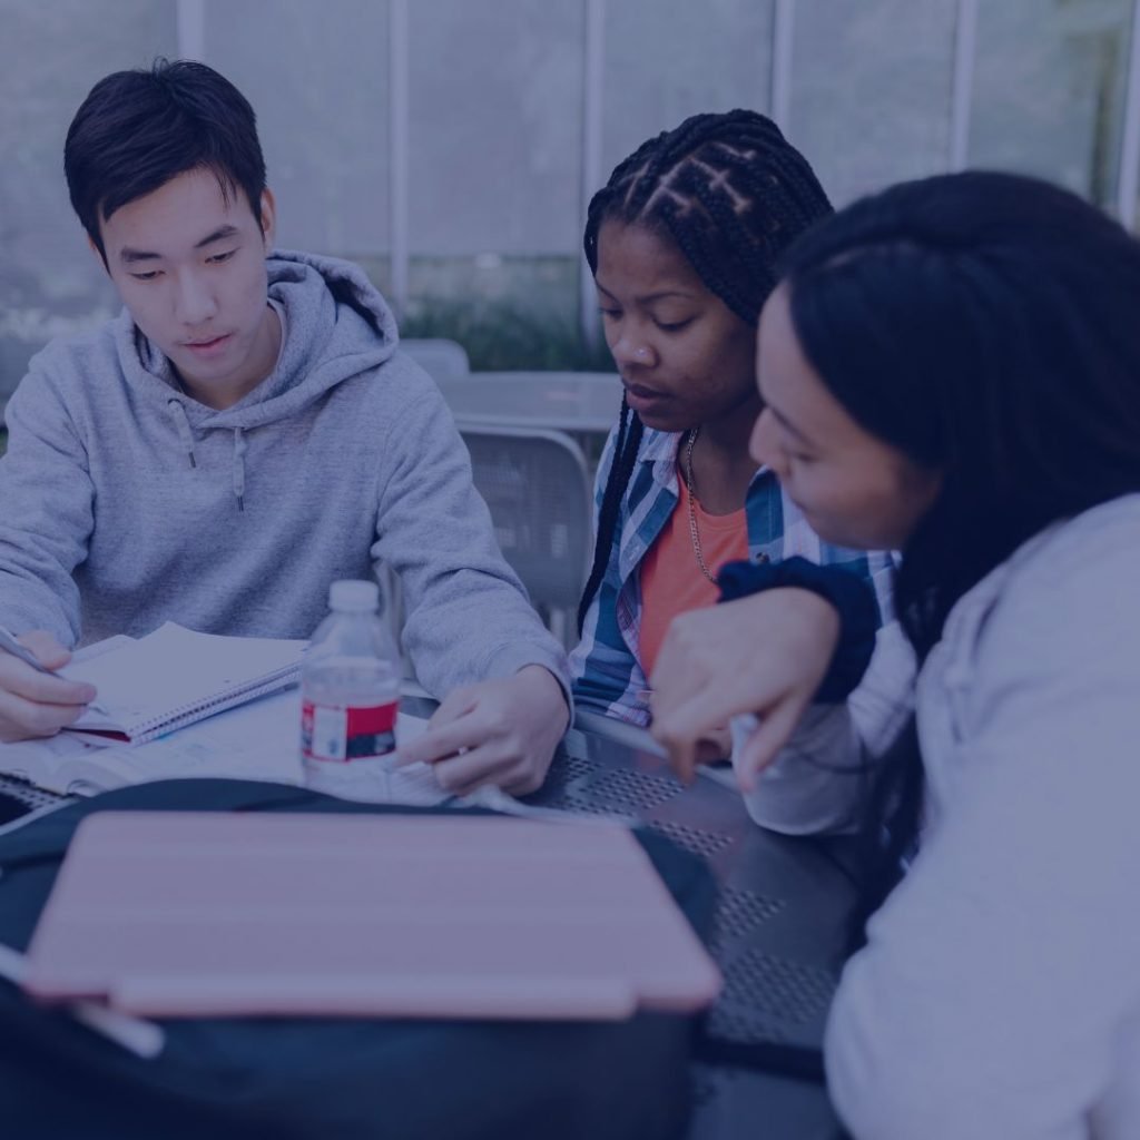
[[(784, 272), (823, 383), (866, 431), (942, 472), (895, 585), (920, 661), (1024, 542), (1140, 490), (1140, 244), (1075, 195), (999, 173), (907, 182), (824, 222)], [(880, 771), (858, 930), (917, 837), (913, 722)]]

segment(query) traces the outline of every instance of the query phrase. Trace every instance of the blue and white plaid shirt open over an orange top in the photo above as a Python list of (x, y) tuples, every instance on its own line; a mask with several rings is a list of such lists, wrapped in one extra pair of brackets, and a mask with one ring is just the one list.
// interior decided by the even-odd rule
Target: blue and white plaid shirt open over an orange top
[[(649, 681), (638, 656), (641, 636), (641, 564), (678, 503), (677, 451), (682, 435), (653, 431), (642, 437), (629, 486), (621, 500), (609, 564), (583, 625), (581, 641), (570, 654), (575, 702), (606, 716), (649, 724)], [(613, 464), (617, 429), (610, 432), (594, 487), (594, 522), (601, 510), (605, 480)], [(752, 477), (744, 500), (748, 556), (776, 562), (800, 554), (821, 565), (840, 564), (871, 581), (879, 613), (890, 614), (889, 554), (849, 551), (824, 543), (762, 467)]]

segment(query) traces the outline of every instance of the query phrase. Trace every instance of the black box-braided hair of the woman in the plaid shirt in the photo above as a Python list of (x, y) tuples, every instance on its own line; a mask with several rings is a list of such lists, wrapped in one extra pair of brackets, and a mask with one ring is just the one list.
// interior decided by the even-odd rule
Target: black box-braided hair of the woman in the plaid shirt
[[(586, 260), (596, 275), (604, 221), (648, 227), (674, 242), (705, 287), (756, 328), (781, 253), (831, 212), (807, 160), (771, 119), (755, 111), (693, 115), (643, 142), (591, 199)], [(578, 606), (579, 634), (609, 563), (643, 434), (622, 397), (594, 562)]]

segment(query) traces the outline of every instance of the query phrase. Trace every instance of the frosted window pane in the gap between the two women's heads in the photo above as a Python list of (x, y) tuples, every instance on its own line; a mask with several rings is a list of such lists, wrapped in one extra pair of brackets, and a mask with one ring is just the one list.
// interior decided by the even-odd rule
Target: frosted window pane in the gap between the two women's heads
[(789, 136), (837, 206), (946, 168), (956, 9), (796, 3)]

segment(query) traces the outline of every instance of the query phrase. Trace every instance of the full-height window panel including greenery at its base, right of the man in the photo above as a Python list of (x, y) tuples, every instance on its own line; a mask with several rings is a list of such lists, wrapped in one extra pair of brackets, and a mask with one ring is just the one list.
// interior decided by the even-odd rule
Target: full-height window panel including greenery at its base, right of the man
[(577, 350), (584, 36), (583, 3), (408, 6), (401, 328), (459, 341), (475, 368)]

